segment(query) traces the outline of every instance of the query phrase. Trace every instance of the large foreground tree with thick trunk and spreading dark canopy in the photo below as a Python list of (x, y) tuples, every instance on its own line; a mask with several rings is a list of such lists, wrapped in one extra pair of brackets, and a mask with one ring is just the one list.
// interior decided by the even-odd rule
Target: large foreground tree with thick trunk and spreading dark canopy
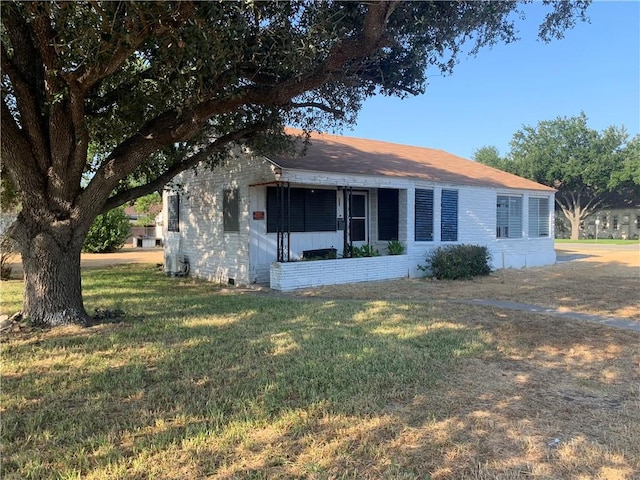
[[(548, 2), (541, 38), (561, 37), (588, 3)], [(2, 162), (22, 203), (11, 235), (23, 313), (47, 325), (87, 320), (80, 250), (97, 215), (233, 144), (284, 148), (284, 125), (327, 129), (372, 95), (422, 93), (427, 67), (449, 73), (467, 41), (474, 54), (515, 40), (522, 18), (516, 2), (475, 1), (0, 9)]]

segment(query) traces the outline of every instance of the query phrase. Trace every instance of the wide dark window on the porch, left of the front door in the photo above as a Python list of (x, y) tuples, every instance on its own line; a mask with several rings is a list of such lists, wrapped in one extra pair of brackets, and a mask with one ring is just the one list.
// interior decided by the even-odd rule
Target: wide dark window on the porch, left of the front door
[(276, 187), (267, 187), (267, 232), (277, 232), (280, 222), (291, 232), (336, 231), (335, 190), (285, 188), (282, 194), (279, 198)]

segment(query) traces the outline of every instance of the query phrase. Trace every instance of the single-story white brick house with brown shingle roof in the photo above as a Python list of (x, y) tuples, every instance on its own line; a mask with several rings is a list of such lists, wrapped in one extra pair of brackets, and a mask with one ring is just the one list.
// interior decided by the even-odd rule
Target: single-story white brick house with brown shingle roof
[[(237, 155), (164, 194), (167, 264), (232, 284), (420, 276), (428, 250), (485, 245), (493, 268), (555, 262), (554, 190), (441, 150), (316, 134), (306, 155)], [(403, 255), (385, 255), (389, 240)], [(380, 256), (343, 258), (370, 245)], [(329, 260), (297, 261), (327, 254)]]

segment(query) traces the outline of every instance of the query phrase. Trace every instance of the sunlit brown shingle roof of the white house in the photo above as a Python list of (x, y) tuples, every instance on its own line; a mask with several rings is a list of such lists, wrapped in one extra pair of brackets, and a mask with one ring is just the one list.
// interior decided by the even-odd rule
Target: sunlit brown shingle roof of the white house
[[(291, 130), (291, 134), (300, 133)], [(328, 134), (311, 134), (301, 157), (270, 157), (284, 169), (382, 175), (450, 185), (554, 191), (553, 188), (443, 150)]]

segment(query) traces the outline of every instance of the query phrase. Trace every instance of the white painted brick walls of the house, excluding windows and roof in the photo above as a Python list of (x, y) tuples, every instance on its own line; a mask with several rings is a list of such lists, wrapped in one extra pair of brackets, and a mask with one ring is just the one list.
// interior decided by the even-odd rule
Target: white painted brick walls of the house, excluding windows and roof
[[(264, 158), (240, 155), (227, 165), (214, 171), (199, 169), (198, 174), (185, 172), (176, 179), (184, 185), (180, 202), (180, 232), (167, 232), (164, 222), (165, 254), (182, 253), (191, 263), (191, 274), (207, 280), (227, 283), (230, 278), (237, 284), (252, 283), (269, 278), (272, 285), (282, 289), (300, 288), (312, 284), (345, 283), (384, 278), (412, 277), (423, 275), (417, 266), (424, 264), (428, 250), (441, 245), (440, 239), (440, 198), (442, 188), (457, 189), (458, 242), (486, 245), (492, 254), (493, 268), (520, 268), (546, 265), (555, 262), (553, 248), (553, 197), (550, 199), (551, 235), (547, 238), (496, 239), (496, 197), (498, 194), (524, 195), (526, 205), (529, 195), (539, 196), (540, 192), (503, 191), (487, 188), (435, 185), (416, 183), (406, 178), (366, 177), (362, 175), (339, 175), (318, 172), (283, 172), (283, 180), (300, 186), (351, 186), (354, 188), (376, 189), (397, 188), (400, 190), (400, 240), (406, 246), (406, 255), (373, 257), (370, 259), (339, 259), (320, 262), (294, 262), (271, 264), (276, 258), (276, 235), (259, 235), (260, 262), (250, 264), (250, 225), (255, 232), (266, 232), (266, 221), (256, 222), (250, 218), (252, 211), (265, 210), (265, 188), (260, 185), (274, 180), (272, 165)], [(222, 196), (223, 190), (238, 188), (240, 196), (240, 231), (223, 232)], [(434, 238), (433, 242), (414, 241), (415, 188), (434, 190)], [(371, 190), (372, 212), (377, 205), (377, 197)], [(253, 196), (253, 197), (252, 197)], [(253, 200), (250, 201), (250, 198)], [(253, 205), (251, 204), (253, 202)], [(165, 202), (166, 204), (166, 202)], [(166, 218), (166, 207), (163, 212)], [(372, 243), (377, 238), (375, 215), (370, 215)], [(525, 220), (524, 228), (528, 226)], [(258, 227), (256, 229), (256, 227)], [(342, 248), (343, 232), (295, 233), (292, 234), (294, 258), (303, 250), (315, 248)], [(384, 243), (384, 245), (383, 245)], [(386, 242), (378, 242), (376, 247), (385, 253)], [(273, 260), (269, 260), (269, 258)], [(344, 268), (345, 261), (361, 262), (361, 268)], [(331, 262), (337, 262), (333, 267)], [(389, 262), (388, 264), (385, 262)], [(278, 266), (280, 265), (280, 266)], [(318, 266), (315, 266), (318, 265)], [(340, 268), (338, 268), (338, 266)], [(314, 268), (319, 269), (316, 271)], [(283, 275), (287, 273), (287, 277)], [(275, 283), (274, 283), (275, 282)], [(298, 285), (296, 287), (296, 285)]]

